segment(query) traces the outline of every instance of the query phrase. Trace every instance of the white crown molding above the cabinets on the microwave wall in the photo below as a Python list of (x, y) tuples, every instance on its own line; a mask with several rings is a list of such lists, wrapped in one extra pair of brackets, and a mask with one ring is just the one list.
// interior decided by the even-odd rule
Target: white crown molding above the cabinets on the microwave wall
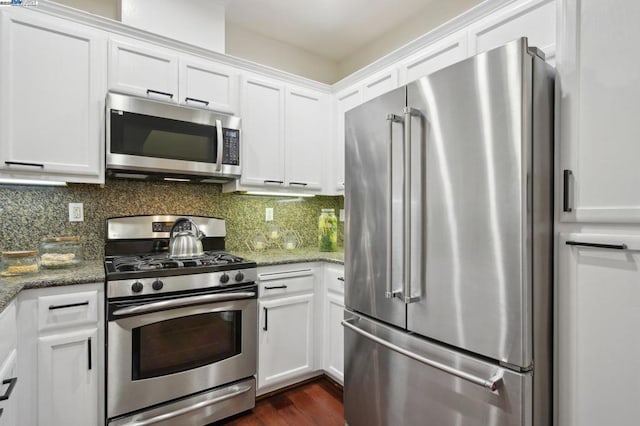
[(87, 25), (99, 30), (107, 31), (111, 34), (117, 34), (125, 37), (132, 37), (138, 40), (155, 43), (163, 47), (175, 49), (177, 51), (197, 55), (205, 59), (210, 59), (232, 67), (242, 68), (256, 74), (260, 74), (270, 78), (276, 78), (287, 83), (298, 84), (310, 89), (315, 89), (325, 93), (331, 93), (331, 85), (320, 83), (296, 74), (281, 71), (266, 65), (248, 61), (246, 59), (237, 58), (223, 53), (213, 52), (198, 46), (184, 43), (159, 34), (154, 34), (139, 28), (125, 25), (120, 21), (104, 18), (78, 9), (74, 9), (62, 4), (54, 3), (48, 0), (38, 0), (38, 5), (29, 7), (29, 9), (45, 13), (52, 16), (68, 19), (79, 24)]

